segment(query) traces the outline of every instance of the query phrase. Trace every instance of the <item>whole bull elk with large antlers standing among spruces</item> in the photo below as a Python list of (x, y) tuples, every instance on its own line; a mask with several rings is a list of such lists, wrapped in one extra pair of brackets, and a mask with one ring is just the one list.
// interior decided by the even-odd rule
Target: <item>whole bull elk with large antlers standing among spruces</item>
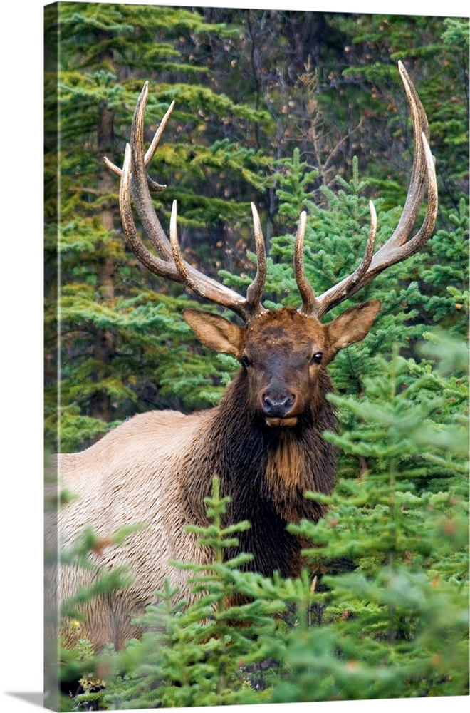
[[(105, 159), (120, 176), (120, 215), (132, 251), (155, 275), (191, 288), (200, 297), (231, 309), (244, 327), (217, 314), (185, 309), (184, 319), (202, 344), (232, 354), (240, 369), (218, 406), (184, 415), (178, 411), (139, 414), (110, 431), (82, 453), (58, 456), (59, 481), (78, 498), (59, 513), (59, 542), (70, 545), (87, 524), (106, 537), (119, 525), (145, 523), (125, 545), (104, 547), (95, 560), (105, 568), (128, 565), (134, 583), (112, 597), (90, 602), (83, 610), (80, 636), (95, 648), (106, 642), (122, 647), (140, 630), (133, 615), (155, 601), (154, 591), (167, 577), (189, 596), (187, 572), (169, 560), (208, 563), (210, 553), (199, 548), (185, 523), (204, 523), (204, 497), (216, 474), (224, 494), (231, 497), (227, 520), (249, 520), (239, 547), (253, 555), (252, 567), (265, 575), (278, 570), (295, 577), (301, 570), (301, 543), (288, 533), (288, 523), (318, 520), (319, 503), (307, 500), (308, 489), (331, 493), (335, 484), (335, 454), (322, 433), (333, 429), (333, 407), (325, 399), (331, 390), (326, 367), (340, 349), (359, 342), (369, 332), (380, 302), (350, 307), (328, 324), (321, 318), (351, 297), (382, 270), (414, 255), (429, 240), (437, 215), (437, 184), (429, 150), (427, 117), (402, 63), (399, 73), (411, 108), (414, 161), (402, 216), (395, 232), (375, 252), (377, 218), (370, 202), (370, 231), (365, 254), (351, 275), (323, 294), (315, 295), (303, 265), (305, 212), (301, 213), (294, 248), (294, 272), (302, 304), (298, 309), (266, 309), (261, 303), (266, 279), (266, 252), (258, 212), (253, 204), (257, 268), (241, 297), (204, 276), (182, 256), (177, 237), (177, 205), (173, 202), (169, 240), (152, 207), (150, 192), (163, 190), (147, 175), (173, 104), (165, 114), (147, 153), (144, 153), (145, 83), (132, 120), (130, 145), (123, 168)], [(427, 212), (410, 238), (427, 193)], [(150, 252), (135, 227), (132, 201), (142, 229), (155, 249)], [(61, 566), (59, 599), (70, 597), (87, 583), (87, 571)], [(74, 631), (64, 627), (68, 645)]]

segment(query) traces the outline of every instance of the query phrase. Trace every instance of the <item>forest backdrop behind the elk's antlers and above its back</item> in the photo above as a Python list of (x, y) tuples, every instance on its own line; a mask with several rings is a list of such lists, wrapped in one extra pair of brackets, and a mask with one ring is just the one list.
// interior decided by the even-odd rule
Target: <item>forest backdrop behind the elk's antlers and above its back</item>
[[(429, 117), (438, 231), (424, 257), (360, 294), (386, 295), (367, 357), (390, 354), (393, 342), (414, 355), (414, 340), (435, 324), (465, 332), (466, 253), (444, 236), (464, 230), (469, 190), (467, 21), (81, 3), (61, 4), (59, 21), (60, 292), (53, 190), (46, 203), (46, 430), (54, 447), (57, 304), (64, 450), (90, 445), (137, 411), (204, 408), (229, 378), (179, 316), (194, 295), (142, 270), (122, 235), (118, 180), (103, 155), (122, 165), (147, 79), (149, 140), (176, 101), (151, 169), (168, 185), (155, 201), (162, 225), (177, 198), (189, 262), (244, 289), (254, 272), (254, 201), (271, 250), (266, 297), (296, 304), (290, 248), (303, 207), (318, 292), (360, 260), (369, 198), (379, 244), (397, 223), (413, 151), (402, 59)], [(55, 110), (55, 93), (46, 108), (48, 98)], [(53, 132), (51, 140), (46, 188), (56, 182)], [(347, 384), (345, 360), (338, 371)]]

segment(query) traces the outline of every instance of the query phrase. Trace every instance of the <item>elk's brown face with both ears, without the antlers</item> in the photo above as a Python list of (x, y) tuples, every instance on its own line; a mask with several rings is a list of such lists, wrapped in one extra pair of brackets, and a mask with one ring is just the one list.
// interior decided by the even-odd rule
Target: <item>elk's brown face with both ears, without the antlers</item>
[(379, 309), (374, 300), (321, 324), (284, 308), (263, 312), (244, 328), (195, 309), (185, 310), (184, 318), (207, 347), (241, 360), (250, 409), (276, 428), (296, 425), (309, 402), (318, 398), (319, 374), (339, 349), (365, 337)]

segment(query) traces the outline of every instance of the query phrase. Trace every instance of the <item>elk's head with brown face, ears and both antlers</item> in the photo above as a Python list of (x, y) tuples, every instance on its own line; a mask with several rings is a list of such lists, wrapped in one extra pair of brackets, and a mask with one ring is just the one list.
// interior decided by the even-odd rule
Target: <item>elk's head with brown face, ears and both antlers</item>
[[(301, 294), (298, 310), (266, 310), (261, 304), (266, 281), (266, 251), (256, 207), (251, 204), (254, 220), (257, 269), (254, 281), (241, 297), (189, 265), (182, 257), (177, 238), (177, 204), (173, 202), (169, 240), (152, 207), (151, 190), (164, 190), (147, 175), (147, 165), (155, 154), (160, 137), (174, 103), (169, 107), (154, 139), (144, 155), (143, 126), (148, 97), (145, 83), (137, 101), (130, 145), (125, 150), (122, 170), (105, 159), (108, 167), (120, 175), (120, 212), (125, 235), (137, 256), (151, 272), (186, 284), (201, 297), (231, 309), (244, 320), (245, 326), (229, 322), (216, 314), (195, 309), (184, 310), (184, 319), (198, 339), (217, 352), (233, 354), (239, 359), (249, 381), (251, 406), (268, 426), (294, 426), (315, 389), (325, 366), (340, 349), (359, 342), (369, 331), (380, 302), (359, 304), (322, 324), (328, 310), (369, 284), (382, 270), (418, 252), (429, 240), (437, 216), (437, 183), (434, 160), (429, 149), (427, 117), (411, 80), (399, 62), (399, 73), (412, 112), (414, 161), (412, 177), (402, 216), (397, 228), (380, 250), (375, 251), (377, 216), (370, 202), (370, 230), (365, 254), (359, 267), (326, 292), (315, 296), (305, 277), (303, 240), (306, 214), (301, 213), (294, 247), (294, 272)], [(422, 226), (410, 238), (419, 208), (427, 192), (427, 212)], [(158, 253), (147, 250), (137, 234), (132, 217), (130, 195), (142, 222), (145, 235)]]

